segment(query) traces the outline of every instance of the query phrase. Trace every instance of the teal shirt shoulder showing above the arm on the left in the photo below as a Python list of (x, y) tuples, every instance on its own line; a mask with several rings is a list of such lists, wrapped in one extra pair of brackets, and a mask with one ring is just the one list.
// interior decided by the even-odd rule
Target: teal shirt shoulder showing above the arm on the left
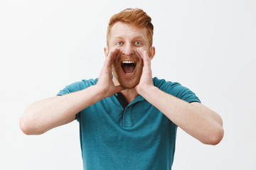
[(97, 84), (97, 79), (82, 79), (82, 81), (77, 81), (75, 83), (69, 84), (68, 86), (65, 86), (65, 88), (60, 90), (57, 95), (69, 94), (75, 91), (80, 91), (95, 84)]

